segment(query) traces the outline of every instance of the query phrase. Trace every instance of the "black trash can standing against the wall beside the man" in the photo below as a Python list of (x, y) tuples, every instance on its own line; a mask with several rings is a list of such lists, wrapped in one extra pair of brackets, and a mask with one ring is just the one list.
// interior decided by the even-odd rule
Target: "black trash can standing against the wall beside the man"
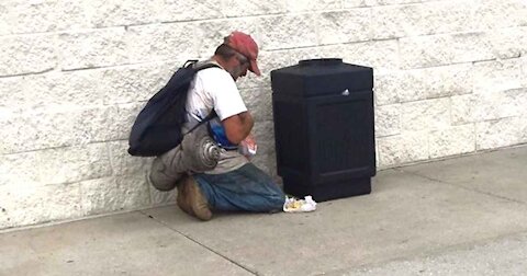
[(371, 192), (373, 69), (338, 58), (271, 71), (278, 175), (317, 202)]

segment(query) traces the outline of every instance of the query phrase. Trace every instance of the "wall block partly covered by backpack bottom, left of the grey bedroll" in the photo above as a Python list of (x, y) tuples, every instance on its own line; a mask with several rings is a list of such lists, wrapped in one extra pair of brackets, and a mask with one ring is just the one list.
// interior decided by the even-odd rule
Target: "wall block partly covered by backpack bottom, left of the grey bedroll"
[(114, 175), (141, 174), (149, 169), (150, 158), (132, 157), (128, 154), (128, 141), (112, 141), (108, 143)]

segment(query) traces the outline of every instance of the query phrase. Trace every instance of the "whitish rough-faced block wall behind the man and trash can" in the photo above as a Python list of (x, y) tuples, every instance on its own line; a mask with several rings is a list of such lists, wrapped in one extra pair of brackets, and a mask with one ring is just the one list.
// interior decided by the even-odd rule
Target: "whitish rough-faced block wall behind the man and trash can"
[(173, 203), (131, 124), (233, 30), (261, 48), (239, 87), (274, 176), (269, 72), (305, 58), (374, 68), (380, 169), (527, 142), (525, 0), (3, 0), (0, 229)]

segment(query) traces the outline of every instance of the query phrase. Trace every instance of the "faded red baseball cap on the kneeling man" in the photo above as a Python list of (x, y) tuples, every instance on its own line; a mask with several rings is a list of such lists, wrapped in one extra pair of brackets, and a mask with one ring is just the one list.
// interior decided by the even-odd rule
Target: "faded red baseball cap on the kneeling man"
[(250, 35), (235, 31), (226, 37), (225, 44), (249, 59), (249, 70), (251, 72), (256, 76), (261, 74), (260, 69), (258, 69), (258, 65), (256, 64), (258, 45)]

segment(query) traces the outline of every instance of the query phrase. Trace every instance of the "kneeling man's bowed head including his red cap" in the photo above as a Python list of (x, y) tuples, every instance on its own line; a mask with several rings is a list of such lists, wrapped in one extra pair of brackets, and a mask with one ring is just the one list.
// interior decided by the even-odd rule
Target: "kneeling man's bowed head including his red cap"
[(250, 35), (242, 32), (231, 33), (216, 48), (214, 55), (222, 59), (222, 66), (233, 76), (234, 80), (246, 76), (247, 70), (256, 76), (261, 74), (256, 64), (258, 45)]

